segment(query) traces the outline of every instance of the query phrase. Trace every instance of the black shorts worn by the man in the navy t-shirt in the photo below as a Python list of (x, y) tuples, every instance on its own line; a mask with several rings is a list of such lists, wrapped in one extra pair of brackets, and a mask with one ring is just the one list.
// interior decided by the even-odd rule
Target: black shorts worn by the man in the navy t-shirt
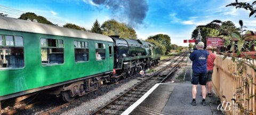
[(200, 85), (206, 85), (206, 73), (194, 73), (191, 78), (191, 84), (197, 85), (199, 82)]

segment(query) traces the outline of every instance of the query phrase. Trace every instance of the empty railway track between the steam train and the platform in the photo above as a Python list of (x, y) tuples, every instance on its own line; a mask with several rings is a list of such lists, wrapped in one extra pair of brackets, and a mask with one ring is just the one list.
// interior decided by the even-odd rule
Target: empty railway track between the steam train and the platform
[[(121, 114), (130, 105), (139, 100), (151, 87), (153, 87), (157, 83), (163, 83), (170, 75), (179, 68), (180, 63), (186, 57), (187, 53), (182, 54), (181, 60), (176, 60), (166, 67), (158, 70), (150, 77), (141, 81), (139, 84), (133, 86), (129, 90), (127, 90), (122, 95), (117, 96), (113, 101), (107, 103), (106, 105), (99, 108), (97, 111), (94, 111), (91, 114)], [(159, 73), (163, 72), (167, 68), (171, 68), (171, 71), (166, 76), (157, 76)]]

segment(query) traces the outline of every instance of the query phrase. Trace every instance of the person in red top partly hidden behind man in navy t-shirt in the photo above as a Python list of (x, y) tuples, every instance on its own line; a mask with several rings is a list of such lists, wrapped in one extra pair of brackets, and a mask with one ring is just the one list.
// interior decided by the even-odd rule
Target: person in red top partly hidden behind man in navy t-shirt
[(207, 46), (206, 50), (209, 52), (209, 55), (207, 57), (207, 84), (208, 84), (208, 93), (207, 96), (212, 97), (212, 73), (213, 73), (213, 66), (214, 66), (214, 60), (216, 59), (215, 54), (212, 53), (212, 46)]

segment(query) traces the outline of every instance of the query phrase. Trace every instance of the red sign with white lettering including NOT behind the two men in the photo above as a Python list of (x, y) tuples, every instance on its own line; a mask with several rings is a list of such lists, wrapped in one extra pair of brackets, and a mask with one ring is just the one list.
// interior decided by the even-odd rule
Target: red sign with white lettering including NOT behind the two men
[(207, 37), (206, 38), (206, 45), (212, 46), (213, 48), (222, 47), (223, 46), (223, 39), (218, 37)]

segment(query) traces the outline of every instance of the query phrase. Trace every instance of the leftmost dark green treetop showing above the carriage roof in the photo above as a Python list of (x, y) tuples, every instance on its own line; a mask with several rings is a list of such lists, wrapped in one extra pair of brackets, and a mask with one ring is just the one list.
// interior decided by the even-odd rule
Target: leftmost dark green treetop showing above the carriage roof
[(46, 18), (44, 18), (40, 15), (36, 15), (35, 13), (31, 13), (31, 12), (21, 14), (19, 19), (22, 19), (22, 20), (27, 20), (27, 19), (34, 20), (34, 19), (36, 19), (37, 22), (39, 22), (39, 23), (45, 23), (45, 24), (53, 25), (53, 23), (48, 21)]

